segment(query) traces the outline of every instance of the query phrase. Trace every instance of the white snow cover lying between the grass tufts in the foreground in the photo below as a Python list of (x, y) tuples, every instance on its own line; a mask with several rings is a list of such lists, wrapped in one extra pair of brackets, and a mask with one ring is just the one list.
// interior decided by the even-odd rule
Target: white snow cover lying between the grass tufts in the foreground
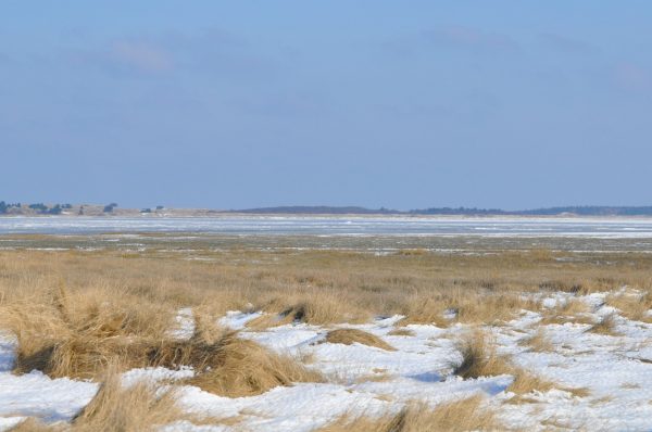
[[(543, 307), (568, 301), (572, 294), (553, 293), (541, 298)], [(514, 377), (501, 374), (462, 379), (453, 374), (462, 355), (456, 342), (468, 329), (463, 325), (439, 328), (429, 325), (403, 327), (405, 335), (392, 334), (401, 316), (381, 317), (356, 326), (329, 328), (290, 323), (265, 330), (250, 330), (248, 321), (261, 314), (230, 312), (216, 317), (223, 327), (240, 331), (275, 352), (304, 361), (321, 371), (324, 383), (278, 386), (258, 396), (229, 398), (183, 385), (178, 404), (189, 414), (216, 419), (238, 418), (235, 424), (201, 424), (180, 421), (162, 427), (165, 431), (288, 431), (318, 430), (344, 414), (371, 417), (398, 412), (411, 401), (436, 407), (438, 404), (477, 394), (497, 411), (505, 428), (514, 430), (652, 430), (652, 325), (624, 318), (605, 306), (605, 294), (575, 297), (590, 307), (590, 318), (614, 316), (614, 334), (587, 331), (587, 323), (541, 323), (541, 312), (523, 310), (517, 319), (485, 327), (497, 353), (515, 365), (559, 385), (535, 391), (527, 401), (514, 403), (509, 391)], [(192, 312), (179, 310), (176, 338), (192, 334)], [(396, 351), (354, 343), (325, 341), (334, 328), (356, 328), (381, 336)], [(523, 342), (541, 329), (551, 350), (537, 351)], [(15, 341), (4, 333), (0, 341), (0, 430), (9, 430), (26, 417), (47, 422), (70, 421), (96, 394), (98, 385), (72, 379), (50, 379), (38, 371), (12, 373)], [(189, 368), (133, 369), (123, 374), (123, 384), (138, 380), (161, 381), (191, 377)], [(573, 392), (581, 389), (582, 392)]]

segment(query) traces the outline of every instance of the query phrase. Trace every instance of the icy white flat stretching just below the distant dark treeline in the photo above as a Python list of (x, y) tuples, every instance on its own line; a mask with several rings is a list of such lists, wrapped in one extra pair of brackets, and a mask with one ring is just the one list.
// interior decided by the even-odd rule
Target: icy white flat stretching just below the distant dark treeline
[[(67, 217), (5, 216), (0, 233), (98, 234), (195, 232), (235, 236), (424, 236), (481, 238), (650, 239), (652, 218), (641, 217)], [(192, 238), (192, 237), (187, 237)]]

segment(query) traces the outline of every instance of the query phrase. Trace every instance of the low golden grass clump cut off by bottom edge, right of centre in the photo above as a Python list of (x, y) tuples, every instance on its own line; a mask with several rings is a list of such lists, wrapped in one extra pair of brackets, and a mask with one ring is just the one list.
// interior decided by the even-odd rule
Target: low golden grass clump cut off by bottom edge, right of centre
[(503, 427), (496, 414), (482, 406), (484, 397), (473, 396), (429, 408), (411, 404), (399, 414), (380, 418), (344, 415), (319, 432), (467, 432), (496, 431)]

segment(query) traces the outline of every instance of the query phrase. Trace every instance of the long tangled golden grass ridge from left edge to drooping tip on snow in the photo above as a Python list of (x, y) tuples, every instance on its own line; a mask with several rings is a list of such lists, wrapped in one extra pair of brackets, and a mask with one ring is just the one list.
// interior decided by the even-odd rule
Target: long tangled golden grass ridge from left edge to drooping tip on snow
[(192, 338), (175, 341), (167, 335), (172, 309), (135, 302), (128, 295), (114, 297), (111, 292), (84, 294), (70, 294), (58, 285), (40, 303), (4, 308), (2, 326), (18, 338), (15, 371), (39, 369), (51, 377), (99, 379), (110, 364), (122, 370), (192, 366), (198, 371), (192, 384), (227, 396), (322, 380), (292, 358), (216, 328), (201, 307), (193, 310)]

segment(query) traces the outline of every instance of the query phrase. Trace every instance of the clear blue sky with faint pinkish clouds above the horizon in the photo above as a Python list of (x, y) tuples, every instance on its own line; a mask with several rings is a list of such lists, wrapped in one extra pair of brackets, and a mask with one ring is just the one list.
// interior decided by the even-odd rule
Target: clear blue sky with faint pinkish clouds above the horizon
[(0, 200), (652, 205), (648, 0), (0, 1)]

